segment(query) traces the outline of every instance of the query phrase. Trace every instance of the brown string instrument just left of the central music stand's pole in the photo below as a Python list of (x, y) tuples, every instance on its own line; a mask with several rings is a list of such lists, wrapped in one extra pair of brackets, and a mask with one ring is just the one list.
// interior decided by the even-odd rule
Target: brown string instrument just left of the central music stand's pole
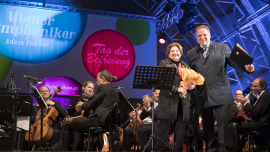
[(137, 145), (137, 149), (140, 146), (140, 138), (138, 135), (138, 129), (142, 127), (142, 120), (140, 118), (140, 115), (138, 114), (137, 111), (139, 111), (141, 108), (141, 104), (137, 103), (137, 108), (136, 108), (136, 117), (132, 119), (132, 121), (129, 123), (128, 128), (133, 127), (133, 142), (135, 145)]

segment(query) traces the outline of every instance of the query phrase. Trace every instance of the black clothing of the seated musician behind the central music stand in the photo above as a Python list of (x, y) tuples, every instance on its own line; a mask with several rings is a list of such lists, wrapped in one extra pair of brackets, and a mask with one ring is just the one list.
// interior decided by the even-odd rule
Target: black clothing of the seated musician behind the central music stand
[[(157, 133), (158, 130), (158, 122), (157, 122), (157, 110), (158, 110), (158, 105), (154, 109), (154, 133)], [(146, 117), (150, 116), (152, 118), (152, 111), (146, 111), (145, 108), (143, 108), (141, 114), (140, 114), (140, 119), (144, 120)], [(143, 149), (149, 140), (149, 137), (152, 133), (152, 123), (148, 122), (143, 122), (142, 127), (138, 129), (138, 135), (140, 138), (140, 145), (141, 149)], [(124, 130), (124, 135), (123, 135), (123, 150), (130, 150), (132, 147), (132, 139), (133, 139), (133, 127), (126, 128)]]

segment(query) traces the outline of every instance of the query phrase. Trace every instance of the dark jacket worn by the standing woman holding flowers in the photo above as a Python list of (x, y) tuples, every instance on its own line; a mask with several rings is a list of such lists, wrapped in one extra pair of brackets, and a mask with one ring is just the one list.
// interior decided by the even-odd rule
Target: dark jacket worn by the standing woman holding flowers
[[(184, 62), (181, 61), (181, 66), (188, 67), (188, 65)], [(175, 67), (174, 63), (172, 62), (171, 59), (165, 59), (160, 62), (161, 67)], [(179, 93), (178, 93), (178, 88), (179, 88), (179, 83), (181, 81), (179, 71), (177, 69), (175, 77), (174, 77), (174, 82), (173, 82), (173, 87), (172, 90), (161, 90), (160, 91), (160, 101), (159, 101), (159, 109), (158, 109), (158, 114), (157, 117), (159, 119), (182, 119), (183, 121), (189, 121), (190, 120), (190, 103), (195, 99), (193, 90), (188, 91), (187, 93), (187, 98), (179, 98)], [(195, 102), (195, 101), (194, 101)], [(181, 108), (178, 109), (178, 103), (182, 104), (180, 105)], [(177, 112), (177, 110), (179, 110)], [(177, 113), (182, 114), (181, 118), (177, 118)]]

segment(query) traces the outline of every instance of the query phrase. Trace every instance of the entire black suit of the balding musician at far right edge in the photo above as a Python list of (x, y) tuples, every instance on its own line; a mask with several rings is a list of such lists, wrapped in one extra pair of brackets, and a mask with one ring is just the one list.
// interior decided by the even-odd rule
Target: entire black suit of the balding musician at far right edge
[(244, 122), (239, 127), (240, 133), (247, 131), (264, 131), (270, 110), (270, 95), (264, 91), (255, 105), (247, 103), (242, 106), (242, 110), (250, 114), (251, 121)]

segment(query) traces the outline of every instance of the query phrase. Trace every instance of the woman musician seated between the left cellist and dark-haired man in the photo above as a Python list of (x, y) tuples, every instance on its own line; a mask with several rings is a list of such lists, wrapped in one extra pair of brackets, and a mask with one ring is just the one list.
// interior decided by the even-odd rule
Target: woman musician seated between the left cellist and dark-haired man
[[(86, 81), (83, 84), (82, 87), (82, 94), (80, 95), (80, 97), (77, 99), (76, 103), (78, 102), (87, 102), (90, 101), (91, 99), (93, 99), (94, 96), (94, 86), (95, 83), (93, 81)], [(79, 116), (81, 115), (81, 110), (80, 111), (75, 111), (74, 116)], [(73, 131), (73, 151), (82, 151), (84, 146), (84, 135), (83, 135), (84, 131)]]

